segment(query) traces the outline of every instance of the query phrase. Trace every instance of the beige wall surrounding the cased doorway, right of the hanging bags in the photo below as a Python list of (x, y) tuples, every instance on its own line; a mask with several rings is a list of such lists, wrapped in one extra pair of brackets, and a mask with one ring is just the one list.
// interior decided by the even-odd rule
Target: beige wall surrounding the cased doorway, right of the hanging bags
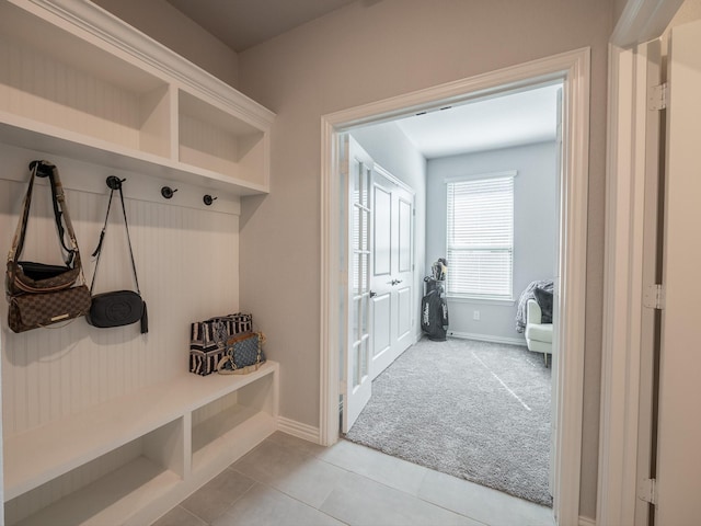
[(239, 56), (240, 89), (278, 114), (272, 193), (244, 199), (241, 306), (280, 362), (281, 415), (319, 424), (320, 117), (591, 47), (582, 514), (596, 513), (610, 0), (355, 2)]

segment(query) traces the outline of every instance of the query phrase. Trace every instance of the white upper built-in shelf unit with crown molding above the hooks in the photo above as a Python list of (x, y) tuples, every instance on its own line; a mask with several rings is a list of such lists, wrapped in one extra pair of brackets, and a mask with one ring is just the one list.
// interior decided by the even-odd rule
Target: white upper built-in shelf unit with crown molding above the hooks
[(0, 141), (267, 193), (274, 114), (91, 2), (0, 2)]

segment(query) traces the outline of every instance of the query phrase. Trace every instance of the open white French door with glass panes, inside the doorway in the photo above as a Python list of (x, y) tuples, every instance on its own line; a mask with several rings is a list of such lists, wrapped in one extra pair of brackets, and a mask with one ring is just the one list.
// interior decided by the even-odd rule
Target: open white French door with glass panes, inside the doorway
[(347, 232), (347, 287), (344, 305), (347, 316), (345, 323), (345, 343), (343, 347), (342, 371), (343, 422), (342, 431), (353, 426), (363, 408), (372, 395), (370, 378), (370, 181), (374, 162), (370, 156), (349, 136), (344, 138), (345, 160), (342, 172), (347, 174), (348, 188), (346, 220)]

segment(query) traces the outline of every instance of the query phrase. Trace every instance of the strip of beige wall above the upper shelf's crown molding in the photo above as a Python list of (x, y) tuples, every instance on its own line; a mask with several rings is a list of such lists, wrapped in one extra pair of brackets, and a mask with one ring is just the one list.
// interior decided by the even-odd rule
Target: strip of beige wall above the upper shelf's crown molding
[(238, 55), (165, 0), (93, 0), (205, 71), (237, 87)]

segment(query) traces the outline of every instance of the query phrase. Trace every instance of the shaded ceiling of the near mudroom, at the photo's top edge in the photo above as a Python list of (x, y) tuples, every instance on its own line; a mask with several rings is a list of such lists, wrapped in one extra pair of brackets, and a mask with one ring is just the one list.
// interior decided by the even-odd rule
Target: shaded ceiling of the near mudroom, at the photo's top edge
[(354, 1), (168, 0), (171, 5), (237, 53)]

